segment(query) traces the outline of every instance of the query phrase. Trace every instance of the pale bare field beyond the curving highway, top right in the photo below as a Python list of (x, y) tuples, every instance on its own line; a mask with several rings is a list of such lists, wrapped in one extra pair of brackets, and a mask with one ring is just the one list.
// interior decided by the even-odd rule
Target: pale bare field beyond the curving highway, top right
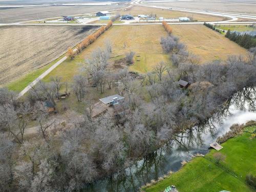
[[(149, 0), (151, 2), (151, 0)], [(145, 3), (147, 1), (144, 1)], [(193, 1), (172, 1), (150, 3), (150, 5), (161, 5), (170, 7), (183, 7), (193, 9), (206, 9), (214, 11), (239, 12), (239, 13), (256, 13), (255, 0), (193, 0)]]

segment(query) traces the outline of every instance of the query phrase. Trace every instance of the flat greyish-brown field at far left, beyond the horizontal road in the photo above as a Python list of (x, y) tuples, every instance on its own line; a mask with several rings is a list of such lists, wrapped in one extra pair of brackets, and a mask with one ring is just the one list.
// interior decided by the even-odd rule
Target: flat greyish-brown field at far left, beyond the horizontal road
[(108, 6), (45, 6), (0, 9), (0, 23), (26, 22), (28, 20), (60, 17), (61, 15), (79, 15), (114, 10), (125, 6), (127, 5), (120, 3)]

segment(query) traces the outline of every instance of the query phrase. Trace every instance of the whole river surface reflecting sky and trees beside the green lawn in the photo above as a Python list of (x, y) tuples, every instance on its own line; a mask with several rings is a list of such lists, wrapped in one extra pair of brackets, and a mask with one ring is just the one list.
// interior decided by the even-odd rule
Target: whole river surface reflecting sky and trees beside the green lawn
[(133, 166), (88, 185), (83, 191), (138, 191), (140, 186), (152, 179), (156, 180), (170, 170), (176, 172), (182, 161), (189, 161), (197, 153), (207, 153), (209, 143), (229, 131), (233, 123), (256, 120), (255, 102), (256, 89), (243, 89), (228, 99), (223, 109), (204, 124), (191, 127)]

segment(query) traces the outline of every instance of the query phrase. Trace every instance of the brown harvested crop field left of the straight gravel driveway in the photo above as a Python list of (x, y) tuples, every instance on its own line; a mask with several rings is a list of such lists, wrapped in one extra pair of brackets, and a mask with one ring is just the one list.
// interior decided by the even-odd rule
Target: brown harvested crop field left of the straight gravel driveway
[(20, 26), (0, 28), (0, 84), (61, 56), (98, 27)]

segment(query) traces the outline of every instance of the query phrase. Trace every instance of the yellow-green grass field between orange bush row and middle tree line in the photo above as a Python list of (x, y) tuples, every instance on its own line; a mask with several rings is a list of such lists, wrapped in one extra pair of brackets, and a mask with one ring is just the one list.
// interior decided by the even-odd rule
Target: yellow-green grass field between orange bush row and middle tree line
[(61, 63), (44, 80), (50, 81), (51, 76), (61, 76), (63, 81), (71, 82), (74, 75), (79, 74), (80, 69), (87, 66), (86, 59), (90, 58), (91, 53), (98, 48), (104, 48), (105, 42), (108, 40), (113, 48), (112, 57), (124, 57), (125, 53), (130, 51), (141, 57), (141, 59), (135, 57), (135, 63), (131, 66), (133, 71), (146, 73), (162, 60), (170, 65), (168, 54), (163, 53), (160, 45), (161, 36), (166, 35), (167, 33), (161, 25), (113, 26), (77, 55), (74, 60), (67, 59)]

